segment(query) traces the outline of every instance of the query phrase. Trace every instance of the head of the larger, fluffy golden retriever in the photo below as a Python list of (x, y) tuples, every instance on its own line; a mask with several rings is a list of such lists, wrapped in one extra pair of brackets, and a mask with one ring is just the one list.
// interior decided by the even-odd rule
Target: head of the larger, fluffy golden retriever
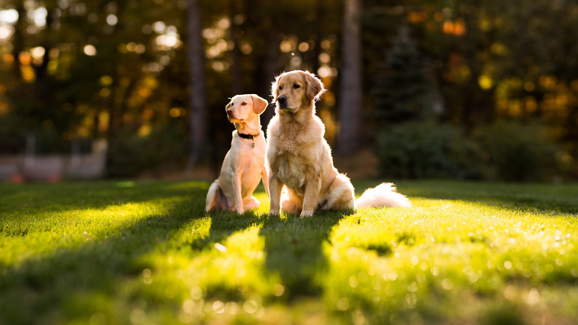
[(297, 112), (302, 107), (313, 105), (325, 88), (323, 83), (309, 71), (295, 70), (276, 77), (271, 88), (273, 103), (286, 112)]

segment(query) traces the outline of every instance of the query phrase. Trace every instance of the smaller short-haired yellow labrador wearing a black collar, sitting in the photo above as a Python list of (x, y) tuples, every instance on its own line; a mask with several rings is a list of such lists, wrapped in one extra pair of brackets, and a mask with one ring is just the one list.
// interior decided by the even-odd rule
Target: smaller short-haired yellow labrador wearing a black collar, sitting
[(236, 95), (225, 108), (229, 121), (235, 124), (231, 149), (225, 156), (221, 175), (209, 187), (205, 210), (245, 210), (258, 208), (253, 197), (261, 177), (269, 194), (265, 169), (265, 134), (259, 115), (267, 107), (265, 99), (255, 95)]

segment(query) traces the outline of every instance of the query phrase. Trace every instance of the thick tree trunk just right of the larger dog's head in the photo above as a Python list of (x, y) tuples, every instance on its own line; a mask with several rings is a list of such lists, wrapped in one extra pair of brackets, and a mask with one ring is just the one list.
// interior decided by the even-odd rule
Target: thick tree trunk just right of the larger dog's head
[(362, 116), (361, 0), (345, 0), (342, 38), (341, 100), (339, 105), (339, 154), (358, 149)]

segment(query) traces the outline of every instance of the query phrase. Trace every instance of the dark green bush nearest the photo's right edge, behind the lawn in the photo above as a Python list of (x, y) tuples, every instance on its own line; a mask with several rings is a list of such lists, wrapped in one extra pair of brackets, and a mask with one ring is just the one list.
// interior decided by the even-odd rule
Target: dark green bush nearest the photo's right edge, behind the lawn
[(558, 171), (558, 146), (539, 124), (501, 121), (484, 128), (481, 140), (502, 180), (542, 180)]

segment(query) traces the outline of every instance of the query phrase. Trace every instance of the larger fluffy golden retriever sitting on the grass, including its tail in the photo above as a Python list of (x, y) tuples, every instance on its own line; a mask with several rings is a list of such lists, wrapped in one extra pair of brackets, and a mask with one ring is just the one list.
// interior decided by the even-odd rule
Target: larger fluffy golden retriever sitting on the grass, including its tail
[(273, 83), (272, 102), (277, 103), (277, 109), (267, 131), (265, 163), (269, 173), (269, 213), (279, 215), (282, 208), (307, 217), (316, 209), (411, 206), (391, 183), (368, 189), (355, 200), (351, 181), (333, 165), (331, 148), (323, 138), (325, 125), (315, 115), (314, 101), (324, 91), (321, 80), (307, 71), (283, 73)]

